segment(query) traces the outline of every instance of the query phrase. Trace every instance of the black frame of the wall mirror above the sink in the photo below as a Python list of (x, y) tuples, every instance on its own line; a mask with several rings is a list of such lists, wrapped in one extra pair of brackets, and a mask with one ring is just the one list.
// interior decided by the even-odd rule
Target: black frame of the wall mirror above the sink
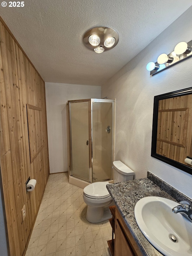
[(192, 94), (192, 87), (174, 92), (164, 93), (154, 97), (151, 156), (192, 175), (192, 167), (189, 167), (185, 164), (179, 163), (175, 160), (156, 153), (159, 101), (189, 94)]

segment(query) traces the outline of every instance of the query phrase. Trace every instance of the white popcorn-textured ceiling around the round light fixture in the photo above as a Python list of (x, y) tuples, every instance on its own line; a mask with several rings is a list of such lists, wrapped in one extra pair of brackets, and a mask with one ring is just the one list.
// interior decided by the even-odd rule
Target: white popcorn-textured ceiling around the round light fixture
[[(43, 79), (85, 85), (102, 85), (192, 5), (191, 0), (24, 3), (0, 7), (0, 15)], [(82, 37), (95, 26), (116, 29), (117, 46), (101, 54), (88, 50)]]

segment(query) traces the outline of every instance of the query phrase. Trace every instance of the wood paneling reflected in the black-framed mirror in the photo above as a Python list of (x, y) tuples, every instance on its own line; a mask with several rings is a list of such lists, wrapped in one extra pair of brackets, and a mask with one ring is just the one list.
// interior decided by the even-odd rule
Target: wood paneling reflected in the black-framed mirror
[(187, 156), (192, 157), (191, 116), (191, 94), (159, 101), (156, 149), (159, 155), (182, 164), (186, 164)]

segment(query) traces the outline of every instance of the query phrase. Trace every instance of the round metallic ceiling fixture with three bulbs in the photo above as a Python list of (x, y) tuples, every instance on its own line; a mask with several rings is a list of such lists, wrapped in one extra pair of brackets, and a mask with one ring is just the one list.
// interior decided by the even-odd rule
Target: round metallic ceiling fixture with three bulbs
[(89, 29), (83, 36), (85, 46), (94, 50), (95, 53), (103, 53), (104, 51), (114, 48), (119, 42), (119, 34), (115, 29), (109, 27), (95, 27)]

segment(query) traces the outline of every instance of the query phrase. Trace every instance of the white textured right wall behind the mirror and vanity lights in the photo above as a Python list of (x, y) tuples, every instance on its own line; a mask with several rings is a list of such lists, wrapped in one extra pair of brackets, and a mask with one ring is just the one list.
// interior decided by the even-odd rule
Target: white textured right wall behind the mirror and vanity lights
[(192, 7), (104, 84), (101, 95), (116, 98), (115, 160), (133, 169), (136, 179), (149, 170), (190, 198), (192, 175), (152, 158), (151, 137), (154, 96), (191, 87), (192, 58), (153, 77), (146, 65), (171, 53), (179, 42), (192, 40), (191, 13)]

